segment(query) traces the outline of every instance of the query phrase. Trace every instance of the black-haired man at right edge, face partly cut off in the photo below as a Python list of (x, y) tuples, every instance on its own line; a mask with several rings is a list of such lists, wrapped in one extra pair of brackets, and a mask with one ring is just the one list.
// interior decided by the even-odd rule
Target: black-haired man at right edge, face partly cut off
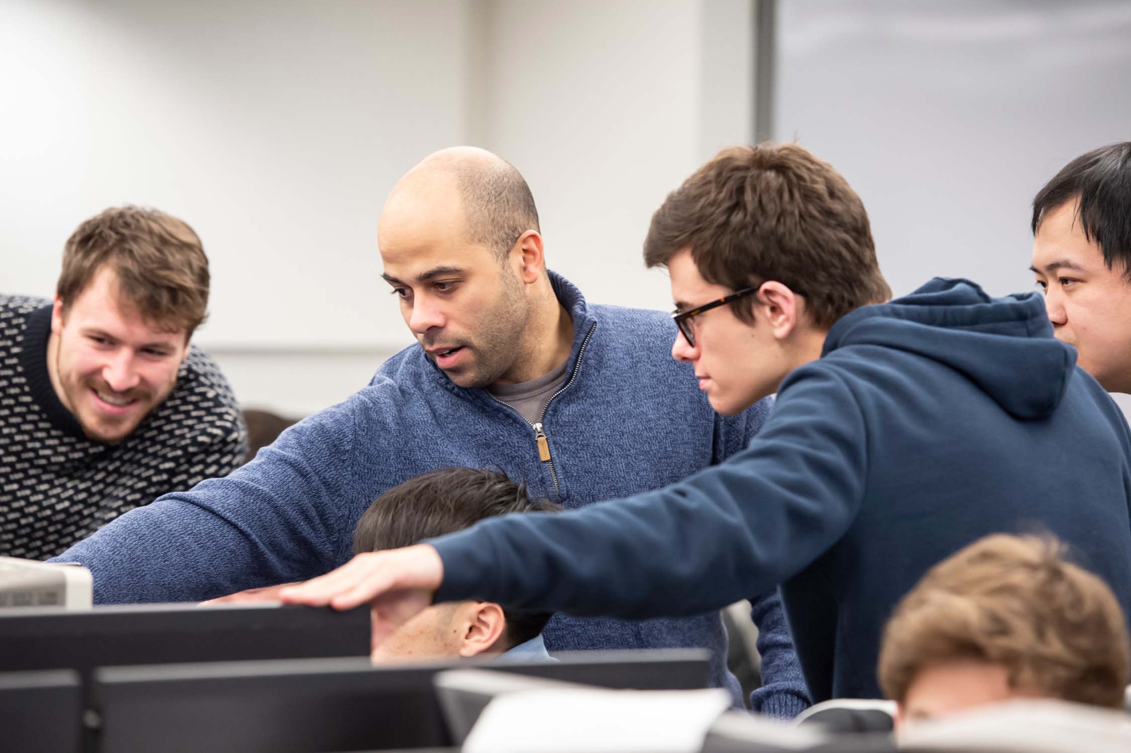
[(1131, 142), (1082, 154), (1033, 199), (1033, 266), (1059, 340), (1131, 393)]

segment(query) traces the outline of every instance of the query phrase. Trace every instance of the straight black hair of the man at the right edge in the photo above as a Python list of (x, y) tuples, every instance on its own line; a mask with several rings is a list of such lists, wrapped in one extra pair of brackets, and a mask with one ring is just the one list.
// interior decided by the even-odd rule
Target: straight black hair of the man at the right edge
[(1081, 154), (1033, 199), (1033, 233), (1053, 209), (1077, 202), (1083, 237), (1099, 246), (1104, 264), (1131, 281), (1131, 142)]

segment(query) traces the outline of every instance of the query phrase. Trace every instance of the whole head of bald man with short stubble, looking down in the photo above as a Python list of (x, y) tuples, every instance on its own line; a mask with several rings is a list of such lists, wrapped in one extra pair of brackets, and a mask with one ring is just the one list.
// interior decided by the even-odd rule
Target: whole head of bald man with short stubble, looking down
[(461, 387), (521, 380), (544, 366), (530, 353), (547, 348), (560, 305), (537, 228), (518, 171), (469, 147), (428, 156), (385, 203), (381, 276), (428, 357)]

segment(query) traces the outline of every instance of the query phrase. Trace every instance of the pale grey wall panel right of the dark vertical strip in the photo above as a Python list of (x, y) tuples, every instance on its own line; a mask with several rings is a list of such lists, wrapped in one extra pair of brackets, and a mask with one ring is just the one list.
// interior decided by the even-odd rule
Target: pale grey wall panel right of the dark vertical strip
[(1071, 159), (1131, 138), (1131, 3), (779, 8), (776, 137), (853, 185), (896, 294), (934, 275), (1033, 290), (1034, 195)]

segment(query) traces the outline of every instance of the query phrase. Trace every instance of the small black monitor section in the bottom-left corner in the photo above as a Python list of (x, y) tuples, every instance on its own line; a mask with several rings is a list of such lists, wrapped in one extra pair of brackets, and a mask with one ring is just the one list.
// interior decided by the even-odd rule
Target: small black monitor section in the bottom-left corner
[(78, 673), (0, 673), (0, 750), (78, 753), (81, 713)]

